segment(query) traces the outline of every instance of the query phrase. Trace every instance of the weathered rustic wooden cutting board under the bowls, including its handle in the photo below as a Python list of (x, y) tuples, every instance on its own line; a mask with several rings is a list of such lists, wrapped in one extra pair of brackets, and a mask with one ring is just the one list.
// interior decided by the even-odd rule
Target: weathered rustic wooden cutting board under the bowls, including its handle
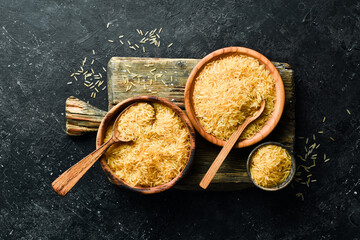
[[(113, 57), (108, 64), (109, 109), (129, 97), (154, 95), (166, 98), (184, 109), (184, 90), (188, 76), (200, 59)], [(291, 150), (295, 137), (295, 95), (293, 70), (287, 63), (273, 62), (285, 86), (285, 108), (275, 130), (262, 142), (280, 142)], [(95, 132), (106, 111), (75, 97), (66, 101), (66, 132), (82, 135)], [(261, 142), (260, 142), (261, 143)], [(259, 144), (260, 144), (259, 143)], [(246, 159), (255, 146), (233, 149), (215, 175), (208, 190), (241, 190), (252, 187), (246, 173)], [(221, 148), (196, 139), (194, 164), (175, 188), (201, 190), (199, 183)]]

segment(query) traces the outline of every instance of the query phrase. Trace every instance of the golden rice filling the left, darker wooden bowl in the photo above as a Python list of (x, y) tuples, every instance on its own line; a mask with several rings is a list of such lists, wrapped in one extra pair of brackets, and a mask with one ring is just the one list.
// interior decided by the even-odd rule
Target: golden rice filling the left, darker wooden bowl
[[(137, 104), (123, 114), (120, 126), (129, 143), (115, 143), (105, 153), (110, 169), (124, 182), (154, 187), (170, 182), (185, 168), (190, 152), (190, 134), (171, 108), (154, 103), (155, 119), (148, 103)], [(113, 126), (106, 131), (105, 141)]]

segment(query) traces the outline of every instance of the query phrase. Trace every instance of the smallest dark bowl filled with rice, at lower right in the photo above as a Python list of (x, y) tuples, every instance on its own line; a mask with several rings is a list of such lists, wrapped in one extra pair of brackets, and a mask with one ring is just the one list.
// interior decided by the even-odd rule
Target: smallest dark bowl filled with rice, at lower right
[(295, 176), (296, 161), (283, 144), (266, 142), (252, 150), (246, 169), (255, 186), (266, 191), (276, 191), (290, 184)]

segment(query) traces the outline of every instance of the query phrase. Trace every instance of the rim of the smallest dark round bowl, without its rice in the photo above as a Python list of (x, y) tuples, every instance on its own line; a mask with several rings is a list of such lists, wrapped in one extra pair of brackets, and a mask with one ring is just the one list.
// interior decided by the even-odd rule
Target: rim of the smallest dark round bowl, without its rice
[[(291, 171), (290, 171), (289, 176), (288, 176), (287, 179), (286, 179), (284, 182), (282, 182), (280, 185), (278, 185), (278, 186), (276, 186), (276, 187), (272, 187), (272, 188), (266, 188), (266, 187), (262, 187), (262, 186), (257, 185), (257, 184), (254, 182), (254, 180), (252, 179), (251, 173), (250, 173), (250, 164), (251, 164), (251, 159), (252, 159), (253, 155), (255, 154), (255, 152), (256, 152), (259, 148), (261, 148), (261, 147), (263, 147), (263, 146), (266, 146), (266, 145), (277, 145), (277, 146), (280, 146), (280, 147), (286, 149), (286, 151), (287, 151), (287, 152), (290, 154), (290, 156), (291, 156)], [(254, 185), (257, 186), (258, 188), (260, 188), (260, 189), (262, 189), (262, 190), (265, 190), (265, 191), (277, 191), (277, 190), (283, 189), (284, 187), (286, 187), (287, 185), (289, 185), (290, 182), (293, 180), (293, 178), (294, 178), (294, 176), (295, 176), (295, 172), (296, 172), (296, 160), (295, 160), (294, 156), (292, 155), (292, 153), (290, 152), (290, 150), (289, 150), (287, 147), (285, 147), (283, 144), (278, 143), (278, 142), (265, 142), (265, 143), (260, 144), (259, 146), (257, 146), (256, 148), (254, 148), (254, 149), (251, 151), (251, 153), (250, 153), (250, 155), (249, 155), (249, 157), (248, 157), (248, 159), (247, 159), (247, 162), (246, 162), (246, 171), (247, 171), (247, 173), (248, 173), (248, 175), (249, 175), (249, 178), (251, 179), (252, 183), (254, 183)]]

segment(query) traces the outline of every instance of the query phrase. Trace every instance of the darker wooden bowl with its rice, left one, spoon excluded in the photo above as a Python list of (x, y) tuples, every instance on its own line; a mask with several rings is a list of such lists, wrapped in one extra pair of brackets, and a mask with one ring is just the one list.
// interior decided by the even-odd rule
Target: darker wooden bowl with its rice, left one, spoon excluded
[[(138, 104), (132, 105), (134, 103)], [(116, 117), (130, 105), (135, 107), (126, 110), (126, 118), (121, 122), (124, 129), (127, 119), (136, 121), (145, 116), (149, 106), (154, 110), (154, 120), (151, 124), (127, 129), (128, 134), (136, 132), (137, 138), (113, 144), (100, 159), (100, 165), (109, 180), (118, 186), (144, 194), (167, 190), (191, 167), (195, 131), (186, 114), (175, 104), (159, 97), (138, 96), (120, 102), (106, 114), (98, 130), (96, 147), (111, 137)]]

